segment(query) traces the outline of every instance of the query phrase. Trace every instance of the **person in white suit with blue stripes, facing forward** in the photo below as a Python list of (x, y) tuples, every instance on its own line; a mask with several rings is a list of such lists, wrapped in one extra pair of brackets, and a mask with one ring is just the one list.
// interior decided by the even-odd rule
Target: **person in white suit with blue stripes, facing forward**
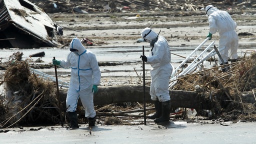
[(71, 68), (71, 78), (66, 96), (66, 112), (70, 120), (70, 127), (77, 128), (77, 101), (80, 97), (88, 118), (89, 126), (95, 125), (95, 110), (93, 93), (97, 92), (100, 82), (100, 70), (96, 56), (85, 49), (78, 38), (73, 38), (69, 45), (70, 53), (66, 60), (52, 60), (53, 64), (64, 68)]

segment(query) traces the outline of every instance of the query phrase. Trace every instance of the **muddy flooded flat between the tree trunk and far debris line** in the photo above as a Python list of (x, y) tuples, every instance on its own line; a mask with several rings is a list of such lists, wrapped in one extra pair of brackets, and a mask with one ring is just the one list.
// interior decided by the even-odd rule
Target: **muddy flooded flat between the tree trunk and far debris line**
[[(43, 61), (38, 64), (51, 62), (53, 56), (56, 59), (65, 59), (69, 42), (73, 37), (79, 39), (88, 38), (93, 41), (93, 46), (86, 46), (88, 50), (95, 53), (99, 62), (121, 62), (115, 66), (100, 66), (102, 76), (136, 76), (141, 75), (142, 62), (139, 56), (142, 54), (142, 45), (145, 45), (145, 55), (148, 55), (149, 44), (137, 42), (140, 32), (144, 27), (150, 26), (154, 31), (160, 31), (160, 35), (166, 37), (170, 45), (171, 63), (174, 67), (190, 54), (206, 37), (208, 33), (207, 17), (202, 12), (197, 11), (192, 16), (173, 16), (177, 13), (166, 12), (138, 12), (134, 13), (52, 13), (49, 16), (54, 22), (63, 27), (63, 35), (58, 35), (60, 45), (58, 47), (40, 49), (1, 49), (0, 59), (4, 61), (13, 52), (23, 52), (23, 59), (28, 55), (40, 51), (45, 52)], [(247, 50), (255, 50), (256, 44), (256, 15), (253, 10), (244, 11), (239, 14), (233, 12), (232, 17), (237, 22), (237, 33), (248, 32), (253, 35), (239, 36), (238, 55), (243, 56)], [(140, 17), (135, 17), (138, 14)], [(205, 42), (200, 48), (202, 51), (211, 41), (215, 40), (218, 45), (218, 34), (213, 34), (212, 39)], [(85, 43), (84, 43), (85, 44)], [(66, 45), (66, 46), (64, 46)], [(193, 57), (196, 57), (196, 52)], [(191, 57), (191, 58), (193, 58)], [(217, 56), (216, 56), (217, 57)], [(38, 57), (31, 57), (34, 61)], [(145, 64), (146, 73), (150, 70), (150, 65)], [(138, 73), (135, 72), (135, 70)], [(40, 69), (48, 74), (54, 75), (54, 69)], [(59, 74), (68, 74), (69, 69), (58, 68)]]

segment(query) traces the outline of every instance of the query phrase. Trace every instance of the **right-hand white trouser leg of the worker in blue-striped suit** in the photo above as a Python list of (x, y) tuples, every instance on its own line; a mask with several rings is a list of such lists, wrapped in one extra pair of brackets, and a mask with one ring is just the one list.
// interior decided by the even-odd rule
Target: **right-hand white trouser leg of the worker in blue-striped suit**
[(94, 110), (93, 93), (91, 92), (91, 88), (79, 91), (79, 93), (82, 106), (85, 110), (85, 117), (94, 117), (96, 115), (96, 112)]

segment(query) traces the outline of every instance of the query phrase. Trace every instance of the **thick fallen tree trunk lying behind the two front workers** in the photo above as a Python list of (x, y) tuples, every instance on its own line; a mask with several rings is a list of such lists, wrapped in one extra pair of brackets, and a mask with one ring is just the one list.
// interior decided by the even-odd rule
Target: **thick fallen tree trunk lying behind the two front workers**
[[(60, 99), (65, 101), (66, 89), (60, 89)], [(169, 90), (172, 107), (210, 109), (210, 101), (194, 91)], [(145, 86), (145, 101), (152, 103), (149, 95), (149, 86)], [(124, 84), (114, 86), (98, 87), (98, 92), (94, 94), (94, 105), (104, 105), (122, 102), (143, 102), (142, 84)], [(78, 106), (81, 106), (80, 100)]]

